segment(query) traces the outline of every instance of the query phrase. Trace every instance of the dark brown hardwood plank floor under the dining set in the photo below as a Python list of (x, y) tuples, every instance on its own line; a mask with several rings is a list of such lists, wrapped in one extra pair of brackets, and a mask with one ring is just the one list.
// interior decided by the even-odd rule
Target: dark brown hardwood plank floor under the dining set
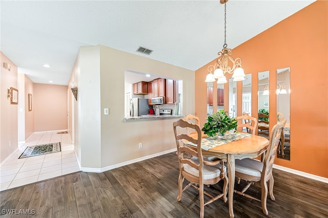
[[(102, 173), (76, 172), (5, 190), (1, 217), (199, 217), (196, 190), (189, 188), (176, 201), (177, 164), (172, 152)], [(235, 217), (327, 217), (328, 184), (277, 169), (273, 174), (276, 200), (268, 197), (269, 215), (260, 202), (235, 194)], [(221, 192), (222, 186), (220, 181), (209, 188)], [(259, 184), (249, 190), (260, 198)], [(207, 205), (205, 217), (229, 217), (228, 203)]]

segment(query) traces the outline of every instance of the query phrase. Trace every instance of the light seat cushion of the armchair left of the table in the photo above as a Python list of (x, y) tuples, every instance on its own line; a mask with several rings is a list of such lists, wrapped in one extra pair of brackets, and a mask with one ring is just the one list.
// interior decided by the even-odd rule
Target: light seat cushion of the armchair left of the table
[[(196, 164), (199, 164), (199, 159), (197, 157), (192, 157), (190, 159)], [(204, 165), (203, 166), (203, 179), (208, 180), (208, 179), (214, 179), (220, 176), (221, 170), (220, 168), (222, 167), (221, 164), (217, 164), (215, 166), (208, 166)], [(191, 167), (189, 164), (183, 165), (183, 170), (186, 172), (190, 173), (193, 176), (199, 177), (199, 171), (193, 167)], [(224, 166), (224, 171), (226, 171), (226, 166)]]

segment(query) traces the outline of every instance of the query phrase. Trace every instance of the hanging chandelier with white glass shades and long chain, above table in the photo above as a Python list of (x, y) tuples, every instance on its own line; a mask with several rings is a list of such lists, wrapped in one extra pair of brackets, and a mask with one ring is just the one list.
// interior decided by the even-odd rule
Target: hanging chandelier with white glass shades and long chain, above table
[[(222, 51), (218, 53), (218, 59), (215, 65), (208, 67), (209, 74), (206, 76), (206, 82), (214, 82), (217, 79), (217, 83), (226, 83), (227, 79), (224, 74), (232, 74), (233, 81), (244, 80), (244, 70), (241, 68), (241, 59), (238, 57), (234, 59), (230, 55), (231, 49), (227, 48), (226, 29), (227, 29), (227, 2), (228, 0), (220, 0), (221, 4), (224, 4), (224, 45)], [(231, 62), (230, 64), (228, 62)], [(212, 73), (214, 71), (214, 73)]]

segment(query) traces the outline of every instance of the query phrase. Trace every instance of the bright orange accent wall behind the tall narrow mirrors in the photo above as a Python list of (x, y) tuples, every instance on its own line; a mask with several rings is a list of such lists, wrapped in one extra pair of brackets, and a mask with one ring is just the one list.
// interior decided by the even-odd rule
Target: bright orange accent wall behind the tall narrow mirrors
[[(258, 72), (270, 71), (270, 93), (275, 93), (276, 69), (290, 67), (291, 160), (276, 158), (275, 164), (328, 178), (328, 1), (314, 2), (232, 52), (242, 58), (245, 74), (252, 74), (252, 114), (257, 112)], [(195, 114), (201, 125), (207, 113), (204, 80), (214, 61), (195, 72)], [(228, 99), (224, 92), (225, 107)], [(276, 117), (276, 95), (270, 95), (269, 101), (270, 117)], [(238, 101), (237, 115), (240, 105)], [(275, 119), (270, 120), (272, 127)]]

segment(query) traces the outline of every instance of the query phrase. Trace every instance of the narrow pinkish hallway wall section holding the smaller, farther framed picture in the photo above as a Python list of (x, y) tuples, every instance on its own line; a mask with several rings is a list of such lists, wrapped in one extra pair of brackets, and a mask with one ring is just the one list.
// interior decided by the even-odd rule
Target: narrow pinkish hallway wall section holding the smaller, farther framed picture
[[(29, 138), (34, 133), (34, 83), (30, 78), (24, 75), (25, 78), (25, 139)], [(32, 111), (28, 110), (28, 94), (32, 94)]]

